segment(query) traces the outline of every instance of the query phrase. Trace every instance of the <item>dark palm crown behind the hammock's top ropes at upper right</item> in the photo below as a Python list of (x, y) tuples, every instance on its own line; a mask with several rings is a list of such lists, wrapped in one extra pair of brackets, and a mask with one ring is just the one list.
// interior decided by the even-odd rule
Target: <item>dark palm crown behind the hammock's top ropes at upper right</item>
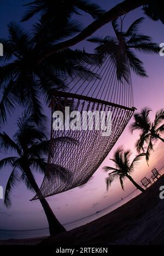
[(158, 44), (151, 42), (151, 37), (139, 33), (138, 26), (143, 20), (144, 18), (135, 20), (126, 32), (122, 31), (122, 20), (121, 26), (119, 26), (118, 20), (114, 20), (112, 25), (116, 37), (92, 37), (88, 40), (99, 44), (96, 48), (97, 54), (102, 52), (103, 48), (107, 49), (104, 55), (109, 54), (112, 58), (118, 79), (121, 79), (122, 76), (127, 77), (127, 63), (135, 74), (147, 77), (143, 62), (137, 58), (133, 50), (143, 53), (159, 53), (160, 51)]

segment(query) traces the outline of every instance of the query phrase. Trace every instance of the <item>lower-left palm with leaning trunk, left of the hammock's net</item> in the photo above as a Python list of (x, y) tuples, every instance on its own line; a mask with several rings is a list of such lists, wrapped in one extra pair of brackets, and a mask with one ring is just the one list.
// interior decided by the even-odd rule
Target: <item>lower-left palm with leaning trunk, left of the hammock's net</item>
[[(57, 138), (56, 140), (62, 140)], [(67, 138), (64, 138), (67, 141)], [(68, 138), (70, 140), (70, 138)], [(11, 199), (10, 193), (17, 183), (23, 181), (26, 187), (35, 193), (41, 193), (33, 176), (33, 171), (38, 171), (41, 174), (45, 173), (46, 155), (49, 151), (49, 141), (46, 136), (46, 131), (43, 125), (36, 125), (33, 116), (22, 115), (17, 121), (17, 131), (13, 138), (9, 137), (7, 133), (0, 133), (0, 146), (3, 153), (13, 153), (12, 156), (0, 160), (0, 169), (11, 166), (7, 186), (5, 188), (4, 204), (10, 207)], [(60, 166), (55, 166), (54, 171), (60, 175), (62, 180), (69, 178), (69, 173)], [(46, 218), (49, 224), (50, 235), (56, 235), (66, 231), (60, 222), (56, 219), (48, 202), (42, 197), (39, 199), (44, 209)]]

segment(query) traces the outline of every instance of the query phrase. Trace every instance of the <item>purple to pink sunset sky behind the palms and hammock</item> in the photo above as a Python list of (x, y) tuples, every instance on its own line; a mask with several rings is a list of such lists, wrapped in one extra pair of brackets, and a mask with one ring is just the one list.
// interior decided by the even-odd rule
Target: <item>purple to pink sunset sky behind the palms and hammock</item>
[[(95, 2), (101, 4), (102, 8), (108, 10), (121, 1), (95, 0)], [(25, 10), (25, 7), (22, 7), (22, 4), (24, 3), (27, 3), (27, 1), (0, 0), (0, 38), (8, 36), (7, 24), (9, 24), (11, 20), (16, 22), (20, 21)], [(127, 14), (123, 29), (126, 29), (134, 20), (141, 16), (144, 16), (144, 14), (140, 8), (133, 10), (130, 14)], [(84, 27), (92, 22), (92, 18), (87, 14), (81, 16), (80, 19), (83, 21)], [(23, 23), (22, 26), (27, 30), (30, 30), (34, 21), (35, 19), (32, 19), (28, 23)], [(153, 41), (159, 44), (164, 42), (163, 31), (164, 26), (160, 21), (154, 22), (147, 17), (145, 17), (143, 24), (140, 25), (140, 32), (151, 36)], [(103, 26), (101, 29), (96, 31), (94, 35), (113, 35), (111, 24)], [(92, 52), (94, 44), (83, 41), (73, 48), (83, 49), (83, 47), (85, 47), (86, 51)], [(143, 79), (132, 74), (134, 106), (138, 109), (137, 111), (145, 106), (150, 107), (153, 110), (150, 116), (151, 118), (154, 118), (155, 112), (158, 109), (163, 108), (164, 57), (160, 57), (159, 54), (149, 55), (137, 53), (137, 55), (144, 62), (144, 66), (149, 77)], [(20, 109), (17, 109), (16, 112), (8, 118), (8, 123), (5, 125), (4, 130), (5, 132), (8, 132), (9, 135), (12, 135), (15, 131), (16, 118), (19, 114)], [(93, 178), (84, 187), (74, 188), (73, 190), (48, 198), (48, 202), (52, 210), (62, 224), (83, 218), (95, 213), (97, 210), (106, 208), (108, 205), (118, 201), (121, 197), (125, 197), (135, 189), (129, 181), (125, 181), (125, 191), (122, 191), (119, 181), (116, 181), (107, 192), (105, 183), (105, 177), (107, 174), (102, 171), (102, 167), (104, 165), (112, 165), (112, 162), (109, 159), (112, 158), (115, 149), (121, 145), (124, 145), (126, 149), (131, 149), (132, 158), (136, 155), (134, 143), (138, 138), (138, 133), (136, 132), (133, 133), (133, 135), (131, 134), (129, 129), (130, 123), (120, 136), (118, 142), (116, 142), (112, 151), (110, 151), (106, 160), (104, 160), (102, 165), (93, 175)], [(150, 177), (150, 171), (154, 167), (157, 169), (162, 168), (164, 165), (162, 160), (163, 151), (164, 147), (162, 142), (156, 141), (154, 145), (154, 152), (150, 157), (149, 166), (145, 163), (145, 160), (140, 162), (140, 165), (138, 165), (138, 168), (136, 168), (136, 171), (132, 174), (134, 180), (139, 182), (144, 176)], [(2, 157), (4, 157), (4, 155), (2, 155)], [(9, 174), (10, 169), (6, 168), (0, 172), (1, 186), (5, 187)], [(35, 177), (40, 185), (42, 183), (43, 176), (35, 175)], [(32, 197), (33, 193), (27, 191), (25, 185), (20, 183), (12, 193), (11, 208), (5, 208), (3, 200), (0, 200), (0, 229), (19, 230), (47, 227), (48, 223), (43, 209), (39, 201), (30, 202)]]

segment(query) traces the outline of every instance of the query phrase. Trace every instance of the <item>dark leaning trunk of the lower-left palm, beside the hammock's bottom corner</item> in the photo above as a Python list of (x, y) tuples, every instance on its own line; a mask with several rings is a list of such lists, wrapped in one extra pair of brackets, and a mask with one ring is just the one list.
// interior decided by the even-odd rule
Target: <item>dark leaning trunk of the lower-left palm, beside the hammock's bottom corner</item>
[[(27, 167), (26, 167), (26, 177), (30, 182), (30, 185), (32, 186), (33, 190), (37, 193), (39, 191), (39, 187), (33, 177), (33, 174), (30, 168), (27, 169)], [(57, 235), (58, 233), (65, 232), (66, 231), (65, 227), (63, 227), (60, 224), (60, 222), (57, 220), (57, 218), (55, 217), (55, 214), (52, 212), (50, 205), (45, 200), (45, 198), (39, 199), (39, 201), (42, 204), (46, 218), (49, 223), (50, 236), (54, 236), (54, 235)]]

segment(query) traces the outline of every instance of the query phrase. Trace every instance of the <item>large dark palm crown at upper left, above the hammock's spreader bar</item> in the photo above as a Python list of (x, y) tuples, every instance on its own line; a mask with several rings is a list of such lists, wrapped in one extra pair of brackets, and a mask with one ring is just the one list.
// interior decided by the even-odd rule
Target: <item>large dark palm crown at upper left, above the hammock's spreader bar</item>
[[(49, 102), (56, 90), (66, 90), (67, 77), (93, 77), (85, 68), (92, 63), (93, 54), (84, 50), (63, 49), (38, 64), (39, 55), (51, 48), (48, 40), (36, 43), (34, 38), (19, 25), (10, 23), (9, 38), (0, 40), (4, 45), (4, 56), (0, 66), (0, 125), (7, 120), (16, 105), (43, 117), (43, 102)], [(42, 99), (42, 100), (41, 100)]]

